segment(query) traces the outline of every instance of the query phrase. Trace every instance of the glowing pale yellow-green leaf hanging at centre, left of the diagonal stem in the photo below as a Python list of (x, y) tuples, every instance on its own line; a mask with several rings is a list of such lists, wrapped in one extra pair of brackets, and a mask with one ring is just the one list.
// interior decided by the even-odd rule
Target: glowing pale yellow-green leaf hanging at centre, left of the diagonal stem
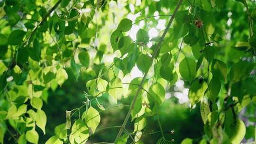
[(109, 86), (109, 94), (114, 99), (115, 103), (117, 103), (117, 99), (121, 95), (122, 81), (118, 77), (114, 77), (110, 81)]

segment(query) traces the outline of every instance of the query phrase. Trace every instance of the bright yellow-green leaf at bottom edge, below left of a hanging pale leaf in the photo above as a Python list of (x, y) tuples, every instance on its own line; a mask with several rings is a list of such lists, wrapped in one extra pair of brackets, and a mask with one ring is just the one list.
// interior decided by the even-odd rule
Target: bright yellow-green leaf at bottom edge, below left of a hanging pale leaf
[(72, 126), (69, 141), (71, 144), (85, 144), (89, 137), (89, 130), (85, 122), (77, 119)]

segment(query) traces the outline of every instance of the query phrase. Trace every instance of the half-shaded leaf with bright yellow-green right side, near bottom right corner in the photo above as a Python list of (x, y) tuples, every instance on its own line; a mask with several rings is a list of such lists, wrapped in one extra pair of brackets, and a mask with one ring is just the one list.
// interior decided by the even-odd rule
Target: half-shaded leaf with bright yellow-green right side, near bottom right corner
[(225, 131), (232, 144), (240, 144), (246, 134), (246, 126), (242, 120), (237, 119), (230, 126), (227, 126)]

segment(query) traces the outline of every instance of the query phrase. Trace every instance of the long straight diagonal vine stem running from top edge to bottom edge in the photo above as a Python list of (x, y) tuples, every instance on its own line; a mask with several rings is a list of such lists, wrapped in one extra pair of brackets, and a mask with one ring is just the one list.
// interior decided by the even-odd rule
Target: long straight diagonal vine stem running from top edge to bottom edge
[[(178, 4), (177, 4), (177, 6), (176, 6), (176, 8), (174, 10), (174, 13), (173, 13), (172, 17), (170, 18), (170, 20), (169, 20), (169, 22), (167, 24), (167, 27), (165, 28), (165, 31), (164, 31), (163, 35), (161, 36), (161, 39), (160, 39), (158, 45), (156, 46), (156, 49), (155, 49), (154, 53), (152, 54), (152, 57), (151, 57), (152, 60), (154, 60), (155, 55), (157, 54), (158, 50), (160, 49), (160, 46), (162, 45), (162, 41), (164, 41), (165, 35), (167, 34), (171, 24), (173, 23), (174, 17), (176, 15), (178, 9), (180, 8), (180, 6), (182, 4), (182, 1), (183, 0), (179, 0)], [(143, 84), (144, 84), (144, 82), (146, 80), (147, 73), (148, 73), (148, 71), (145, 72), (144, 77), (143, 77), (143, 79), (142, 79), (142, 81), (141, 81), (141, 83), (140, 83), (140, 85), (138, 87), (137, 93), (136, 93), (134, 99), (132, 100), (132, 103), (130, 105), (129, 111), (128, 111), (128, 113), (127, 113), (127, 115), (125, 117), (125, 120), (124, 120), (124, 122), (122, 124), (122, 127), (119, 129), (119, 133), (118, 133), (118, 135), (117, 135), (117, 137), (115, 139), (115, 142), (114, 142), (115, 144), (116, 144), (117, 140), (119, 139), (119, 137), (121, 136), (121, 134), (124, 131), (124, 128), (125, 128), (125, 126), (126, 126), (126, 124), (128, 122), (128, 119), (129, 119), (130, 115), (131, 115), (131, 111), (132, 111), (132, 109), (133, 109), (133, 107), (135, 105), (135, 102), (136, 102), (136, 99), (138, 97), (139, 91), (142, 89), (142, 86), (143, 86)]]

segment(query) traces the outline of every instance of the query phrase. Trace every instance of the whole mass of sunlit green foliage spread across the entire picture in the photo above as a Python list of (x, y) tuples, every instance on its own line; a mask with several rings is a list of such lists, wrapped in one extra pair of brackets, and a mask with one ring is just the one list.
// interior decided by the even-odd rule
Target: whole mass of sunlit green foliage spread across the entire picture
[[(42, 6), (45, 3), (49, 5)], [(156, 143), (171, 143), (163, 133), (158, 110), (165, 100), (165, 88), (178, 79), (189, 87), (191, 109), (200, 102), (205, 133), (199, 139), (186, 138), (182, 144), (239, 144), (246, 134), (246, 126), (238, 113), (246, 106), (254, 109), (256, 104), (256, 10), (249, 9), (246, 0), (230, 2), (246, 8), (249, 21), (246, 40), (235, 41), (234, 49), (229, 47), (229, 51), (238, 55), (230, 60), (219, 53), (224, 36), (215, 17), (216, 11), (227, 4), (224, 0), (146, 0), (140, 8), (144, 16), (147, 6), (150, 14), (161, 9), (168, 14), (174, 11), (170, 24), (172, 18), (174, 23), (160, 32), (162, 37), (150, 37), (149, 28), (145, 26), (137, 31), (133, 40), (129, 32), (137, 22), (124, 18), (107, 34), (107, 40), (101, 41), (106, 35), (101, 29), (115, 20), (115, 16), (108, 19), (108, 15), (111, 5), (116, 3), (107, 0), (0, 1), (3, 19), (0, 26), (0, 143), (4, 143), (4, 135), (9, 133), (10, 139), (18, 144), (37, 144), (37, 127), (46, 133), (47, 118), (42, 107), (47, 102), (47, 91), (56, 90), (72, 77), (85, 83), (85, 100), (80, 108), (66, 111), (66, 123), (55, 127), (55, 135), (46, 144), (85, 144), (89, 136), (97, 132), (101, 111), (111, 108), (104, 108), (98, 102), (103, 94), (115, 104), (122, 95), (133, 99), (123, 125), (116, 126), (120, 127), (120, 135), (115, 144), (126, 144), (128, 140), (132, 144), (143, 144), (147, 118), (152, 116), (158, 117), (162, 133)], [(174, 8), (180, 10), (176, 13)], [(110, 65), (103, 61), (108, 54), (116, 55)], [(180, 54), (183, 57), (179, 57)], [(135, 66), (144, 77), (123, 83)], [(127, 92), (125, 85), (128, 85)], [(91, 106), (93, 100), (97, 107)], [(117, 106), (124, 107), (113, 107)], [(86, 110), (80, 116), (84, 107)], [(77, 112), (79, 117), (73, 119)], [(248, 113), (248, 117), (253, 115)], [(134, 123), (131, 133), (125, 128), (130, 116)]]

